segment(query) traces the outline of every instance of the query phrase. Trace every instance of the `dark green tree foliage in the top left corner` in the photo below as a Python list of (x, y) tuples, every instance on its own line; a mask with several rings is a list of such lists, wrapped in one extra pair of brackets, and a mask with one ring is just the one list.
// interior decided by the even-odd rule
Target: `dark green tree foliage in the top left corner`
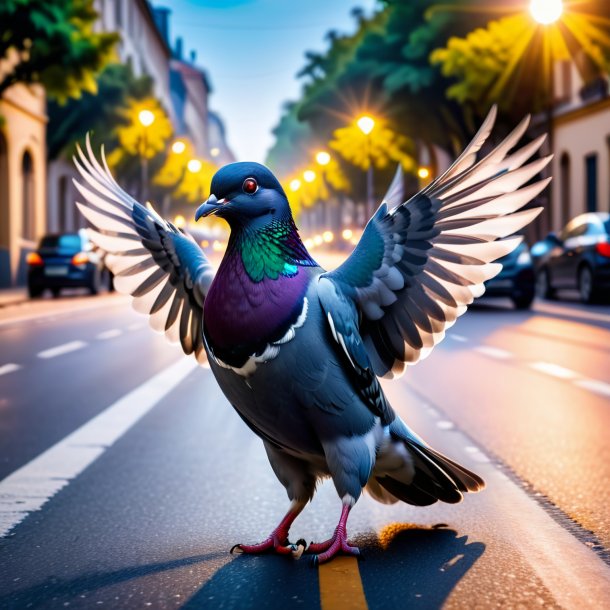
[(94, 93), (95, 76), (114, 57), (118, 34), (95, 32), (93, 0), (0, 2), (0, 96), (15, 83), (39, 83), (64, 102)]

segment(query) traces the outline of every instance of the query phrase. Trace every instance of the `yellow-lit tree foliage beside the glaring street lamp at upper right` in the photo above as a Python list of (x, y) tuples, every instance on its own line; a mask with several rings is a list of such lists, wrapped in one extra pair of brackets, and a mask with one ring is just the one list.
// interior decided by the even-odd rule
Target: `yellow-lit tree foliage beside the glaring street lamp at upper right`
[(552, 61), (573, 59), (585, 83), (608, 74), (610, 20), (601, 5), (566, 4), (557, 23), (548, 26), (522, 11), (452, 37), (431, 60), (453, 83), (449, 98), (480, 111), (498, 104), (514, 121), (548, 106)]

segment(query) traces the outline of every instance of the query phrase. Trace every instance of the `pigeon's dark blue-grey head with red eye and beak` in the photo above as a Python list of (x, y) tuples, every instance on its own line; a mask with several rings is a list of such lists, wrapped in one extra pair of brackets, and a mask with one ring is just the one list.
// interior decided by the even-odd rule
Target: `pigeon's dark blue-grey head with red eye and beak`
[(282, 185), (260, 163), (230, 163), (212, 178), (210, 197), (202, 203), (195, 220), (220, 216), (231, 227), (265, 225), (290, 217)]

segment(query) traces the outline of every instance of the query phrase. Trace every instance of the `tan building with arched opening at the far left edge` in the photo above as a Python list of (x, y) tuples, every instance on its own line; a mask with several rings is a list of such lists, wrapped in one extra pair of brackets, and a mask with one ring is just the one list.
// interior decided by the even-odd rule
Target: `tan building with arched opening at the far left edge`
[[(0, 76), (11, 60), (0, 61)], [(0, 287), (23, 283), (25, 258), (46, 226), (46, 98), (13, 85), (0, 98)]]

